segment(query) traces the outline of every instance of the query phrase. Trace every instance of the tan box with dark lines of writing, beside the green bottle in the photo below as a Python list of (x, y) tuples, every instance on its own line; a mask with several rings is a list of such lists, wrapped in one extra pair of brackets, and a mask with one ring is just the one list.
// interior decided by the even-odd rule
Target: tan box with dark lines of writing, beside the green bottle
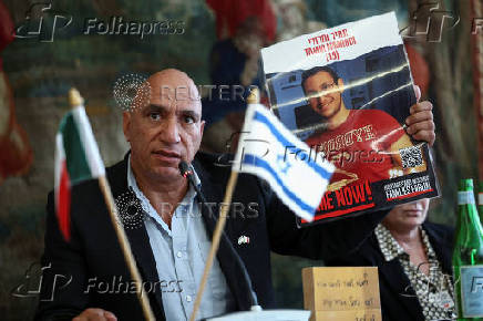
[(376, 267), (306, 268), (302, 281), (304, 306), (315, 312), (312, 320), (381, 320)]

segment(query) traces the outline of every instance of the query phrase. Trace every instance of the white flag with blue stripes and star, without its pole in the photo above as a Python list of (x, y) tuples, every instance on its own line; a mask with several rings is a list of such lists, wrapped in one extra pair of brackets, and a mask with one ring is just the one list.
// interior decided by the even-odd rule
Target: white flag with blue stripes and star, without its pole
[(335, 166), (265, 106), (248, 104), (233, 170), (267, 180), (285, 205), (311, 221)]

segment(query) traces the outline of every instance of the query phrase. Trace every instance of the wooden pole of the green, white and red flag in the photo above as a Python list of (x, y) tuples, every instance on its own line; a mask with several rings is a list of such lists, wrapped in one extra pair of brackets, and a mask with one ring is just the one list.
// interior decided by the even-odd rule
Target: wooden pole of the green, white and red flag
[[(76, 89), (71, 89), (69, 91), (69, 104), (71, 107), (83, 105), (84, 100)], [(117, 207), (114, 203), (112, 196), (111, 186), (109, 185), (105, 175), (99, 177), (99, 187), (101, 188), (102, 195), (104, 196), (105, 204), (107, 205), (109, 214), (111, 217), (112, 225), (114, 227), (117, 240), (121, 245), (122, 252), (124, 255), (125, 262), (131, 272), (131, 277), (136, 286), (137, 299), (140, 300), (141, 308), (143, 309), (144, 318), (147, 321), (155, 321), (153, 311), (150, 306), (147, 296), (143, 296), (144, 287), (143, 280), (141, 278), (140, 271), (137, 270), (136, 262), (134, 260), (133, 252), (131, 251), (131, 246), (127, 240), (124, 227), (122, 226), (121, 219), (119, 217)]]

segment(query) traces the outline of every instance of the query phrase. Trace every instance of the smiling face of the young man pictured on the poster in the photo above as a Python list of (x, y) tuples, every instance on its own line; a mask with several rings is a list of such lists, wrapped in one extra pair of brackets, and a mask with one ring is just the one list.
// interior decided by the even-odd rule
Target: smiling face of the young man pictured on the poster
[(304, 91), (310, 107), (326, 118), (335, 116), (342, 106), (342, 80), (335, 82), (330, 73), (320, 71), (308, 77)]

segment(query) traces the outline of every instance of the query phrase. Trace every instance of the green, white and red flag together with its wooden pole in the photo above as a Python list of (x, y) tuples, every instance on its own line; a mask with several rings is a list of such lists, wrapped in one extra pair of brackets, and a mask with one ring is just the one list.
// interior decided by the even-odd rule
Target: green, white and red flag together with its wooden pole
[(65, 240), (69, 241), (71, 238), (71, 187), (83, 180), (96, 178), (124, 255), (124, 260), (133, 278), (144, 318), (146, 321), (155, 321), (150, 300), (143, 291), (144, 282), (137, 270), (131, 245), (124, 227), (119, 224), (117, 207), (111, 193), (111, 186), (105, 177), (104, 163), (99, 153), (91, 124), (85, 114), (84, 100), (75, 89), (69, 91), (69, 103), (72, 110), (62, 118), (55, 137), (55, 211), (59, 228)]

